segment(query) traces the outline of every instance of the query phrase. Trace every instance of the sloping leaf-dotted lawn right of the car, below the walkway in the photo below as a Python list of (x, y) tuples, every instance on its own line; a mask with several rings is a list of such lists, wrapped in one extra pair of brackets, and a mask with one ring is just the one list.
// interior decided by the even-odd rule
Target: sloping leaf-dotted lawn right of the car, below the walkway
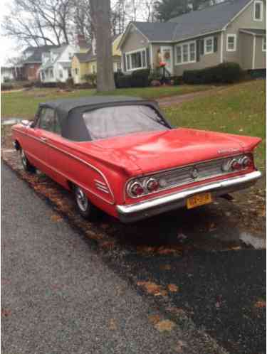
[(266, 80), (245, 82), (216, 95), (164, 108), (169, 121), (178, 127), (259, 136), (256, 151), (259, 168), (266, 166)]

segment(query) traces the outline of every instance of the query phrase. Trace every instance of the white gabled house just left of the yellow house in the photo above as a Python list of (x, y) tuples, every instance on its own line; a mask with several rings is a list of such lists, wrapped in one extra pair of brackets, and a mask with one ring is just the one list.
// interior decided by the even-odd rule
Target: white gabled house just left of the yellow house
[(66, 82), (71, 77), (71, 60), (75, 52), (75, 46), (62, 45), (43, 53), (39, 68), (41, 82)]

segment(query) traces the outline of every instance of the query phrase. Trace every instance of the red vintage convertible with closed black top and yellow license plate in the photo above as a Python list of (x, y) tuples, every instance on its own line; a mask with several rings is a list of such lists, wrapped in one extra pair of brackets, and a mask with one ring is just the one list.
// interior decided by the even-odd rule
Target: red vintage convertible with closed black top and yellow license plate
[(156, 102), (139, 98), (42, 103), (12, 134), (23, 168), (73, 191), (87, 218), (98, 208), (122, 222), (195, 208), (261, 177), (253, 161), (261, 139), (174, 129)]

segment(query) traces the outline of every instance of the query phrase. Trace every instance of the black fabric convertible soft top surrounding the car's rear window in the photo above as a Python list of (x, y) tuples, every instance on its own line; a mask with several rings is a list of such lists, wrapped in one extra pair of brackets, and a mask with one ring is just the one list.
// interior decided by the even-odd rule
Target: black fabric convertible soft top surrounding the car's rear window
[(82, 98), (63, 99), (39, 104), (39, 107), (48, 107), (55, 109), (61, 124), (61, 134), (63, 137), (75, 140), (86, 141), (90, 140), (88, 130), (85, 129), (85, 123), (82, 119), (83, 113), (93, 109), (102, 107), (112, 107), (118, 105), (132, 105), (144, 104), (152, 107), (162, 117), (167, 127), (169, 123), (164, 119), (162, 113), (159, 111), (157, 102), (144, 100), (140, 97), (127, 97), (127, 96), (89, 96)]

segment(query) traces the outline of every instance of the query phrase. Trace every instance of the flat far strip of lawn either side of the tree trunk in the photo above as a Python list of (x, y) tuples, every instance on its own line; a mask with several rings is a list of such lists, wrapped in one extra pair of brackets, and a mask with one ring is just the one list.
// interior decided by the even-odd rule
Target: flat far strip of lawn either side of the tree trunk
[[(108, 95), (126, 95), (156, 99), (190, 92), (209, 90), (209, 85), (182, 85), (145, 88), (117, 89)], [(39, 102), (57, 100), (58, 98), (85, 97), (96, 95), (95, 90), (75, 90), (74, 92), (57, 92), (56, 89), (35, 89), (23, 92), (8, 92), (1, 95), (1, 117), (33, 118)]]

